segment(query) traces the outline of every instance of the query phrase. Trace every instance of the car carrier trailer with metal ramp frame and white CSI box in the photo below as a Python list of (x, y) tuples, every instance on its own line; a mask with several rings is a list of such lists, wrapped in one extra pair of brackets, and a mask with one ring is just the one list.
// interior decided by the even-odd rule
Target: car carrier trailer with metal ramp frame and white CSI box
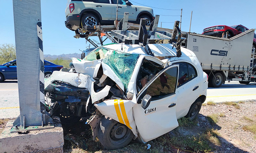
[[(125, 21), (128, 15), (128, 13), (124, 14), (118, 27), (114, 25), (84, 27), (93, 28), (95, 31), (85, 35), (76, 34), (74, 37), (85, 38), (94, 47), (98, 46), (89, 39), (90, 36), (98, 36), (101, 45), (108, 38), (113, 43), (134, 44), (138, 41), (135, 39), (138, 39), (139, 33), (142, 34), (142, 32), (140, 32), (140, 25)], [(151, 39), (161, 38), (162, 41), (168, 41), (172, 37), (173, 30), (157, 27), (158, 20), (159, 15), (156, 15), (153, 24), (150, 27), (146, 26), (147, 34), (151, 35)], [(248, 84), (251, 81), (256, 81), (256, 67), (253, 63), (256, 61), (253, 60), (256, 56), (255, 49), (252, 49), (254, 31), (255, 29), (248, 30), (230, 39), (180, 31), (182, 37), (178, 44), (196, 54), (203, 71), (209, 76), (210, 87), (220, 87), (225, 81), (239, 81), (242, 84)], [(102, 34), (107, 36), (105, 40), (102, 40)]]

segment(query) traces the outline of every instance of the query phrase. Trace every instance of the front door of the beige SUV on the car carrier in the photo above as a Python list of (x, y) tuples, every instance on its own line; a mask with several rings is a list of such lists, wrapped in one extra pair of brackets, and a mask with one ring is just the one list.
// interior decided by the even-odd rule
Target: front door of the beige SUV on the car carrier
[[(118, 0), (118, 15), (117, 19), (120, 21), (124, 17), (124, 12), (129, 12), (128, 21), (136, 21), (136, 7), (134, 5), (126, 5), (125, 0)], [(113, 0), (114, 10), (116, 14), (117, 0)]]

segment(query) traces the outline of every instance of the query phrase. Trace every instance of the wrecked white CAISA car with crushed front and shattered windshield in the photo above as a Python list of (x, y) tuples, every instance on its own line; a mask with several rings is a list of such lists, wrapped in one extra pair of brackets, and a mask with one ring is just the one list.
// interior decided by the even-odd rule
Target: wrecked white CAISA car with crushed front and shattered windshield
[[(206, 99), (207, 74), (195, 54), (172, 44), (110, 44), (72, 58), (70, 70), (45, 79), (51, 115), (62, 121), (87, 116), (93, 137), (107, 149), (132, 139), (153, 140), (178, 126), (177, 119), (195, 119)], [(147, 49), (148, 50), (148, 49)]]

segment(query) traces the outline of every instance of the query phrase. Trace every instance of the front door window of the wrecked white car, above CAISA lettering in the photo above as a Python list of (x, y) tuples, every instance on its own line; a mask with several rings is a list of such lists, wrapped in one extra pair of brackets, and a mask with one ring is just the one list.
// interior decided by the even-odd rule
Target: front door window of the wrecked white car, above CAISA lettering
[(162, 72), (161, 75), (148, 86), (146, 94), (150, 95), (152, 100), (154, 100), (175, 93), (177, 71), (177, 67), (172, 67)]

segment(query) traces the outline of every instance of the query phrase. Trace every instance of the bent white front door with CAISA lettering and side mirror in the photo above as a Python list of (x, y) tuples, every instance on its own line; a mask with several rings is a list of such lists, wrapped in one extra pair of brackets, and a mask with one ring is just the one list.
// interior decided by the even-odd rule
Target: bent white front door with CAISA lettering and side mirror
[[(138, 93), (133, 115), (137, 130), (143, 141), (153, 140), (178, 126), (176, 118), (176, 87), (178, 66), (169, 66), (160, 71)], [(145, 95), (152, 97), (146, 109), (141, 106)]]

